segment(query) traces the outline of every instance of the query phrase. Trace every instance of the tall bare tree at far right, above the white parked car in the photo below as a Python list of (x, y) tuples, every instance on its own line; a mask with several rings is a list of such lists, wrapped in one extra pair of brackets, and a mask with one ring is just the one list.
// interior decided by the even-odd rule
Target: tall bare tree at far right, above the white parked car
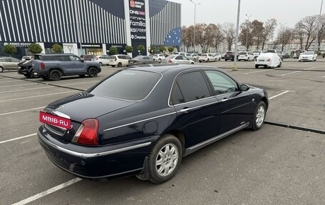
[(299, 28), (301, 34), (303, 34), (306, 41), (305, 50), (309, 49), (313, 41), (316, 39), (317, 29), (317, 16), (306, 16), (296, 23), (296, 28)]

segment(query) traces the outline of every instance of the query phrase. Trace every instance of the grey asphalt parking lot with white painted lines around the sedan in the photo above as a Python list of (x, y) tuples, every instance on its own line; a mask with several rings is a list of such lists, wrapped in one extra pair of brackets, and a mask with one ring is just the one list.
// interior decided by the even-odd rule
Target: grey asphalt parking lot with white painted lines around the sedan
[(38, 144), (44, 106), (117, 68), (61, 81), (1, 73), (0, 204), (325, 204), (325, 60), (284, 59), (279, 69), (253, 69), (253, 61), (237, 62), (237, 69), (230, 61), (202, 65), (266, 89), (266, 124), (185, 157), (177, 175), (160, 185), (135, 176), (76, 178), (53, 165)]

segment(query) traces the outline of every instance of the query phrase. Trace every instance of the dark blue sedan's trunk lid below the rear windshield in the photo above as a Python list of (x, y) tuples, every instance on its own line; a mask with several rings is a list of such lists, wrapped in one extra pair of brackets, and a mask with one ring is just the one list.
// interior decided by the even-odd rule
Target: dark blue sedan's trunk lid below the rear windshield
[(81, 122), (85, 119), (97, 118), (103, 114), (108, 114), (136, 103), (136, 101), (110, 99), (105, 96), (81, 93), (54, 101), (46, 106), (45, 111)]

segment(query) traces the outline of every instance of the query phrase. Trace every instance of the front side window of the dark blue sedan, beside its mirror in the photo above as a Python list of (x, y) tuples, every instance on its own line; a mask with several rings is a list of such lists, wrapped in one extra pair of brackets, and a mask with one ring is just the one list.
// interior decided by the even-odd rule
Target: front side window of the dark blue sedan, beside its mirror
[(205, 74), (210, 79), (216, 95), (239, 90), (236, 81), (220, 71), (205, 71)]

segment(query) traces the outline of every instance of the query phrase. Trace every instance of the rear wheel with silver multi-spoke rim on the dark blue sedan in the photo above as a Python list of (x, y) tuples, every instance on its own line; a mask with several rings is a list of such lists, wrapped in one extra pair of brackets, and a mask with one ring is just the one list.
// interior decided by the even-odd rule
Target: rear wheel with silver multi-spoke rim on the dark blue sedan
[(182, 161), (182, 144), (176, 136), (161, 136), (150, 151), (148, 157), (149, 180), (161, 184), (175, 176)]

